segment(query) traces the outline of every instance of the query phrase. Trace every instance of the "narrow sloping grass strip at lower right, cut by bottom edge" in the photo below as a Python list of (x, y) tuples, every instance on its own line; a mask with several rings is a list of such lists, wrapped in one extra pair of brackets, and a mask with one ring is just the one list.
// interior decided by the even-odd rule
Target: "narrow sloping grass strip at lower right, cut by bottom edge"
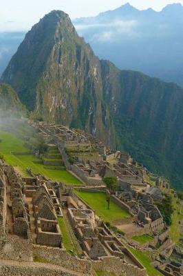
[(160, 273), (157, 269), (153, 267), (151, 264), (151, 259), (146, 253), (142, 253), (142, 251), (138, 249), (129, 248), (131, 253), (136, 256), (136, 258), (141, 262), (141, 264), (144, 266), (144, 268), (147, 269), (147, 273), (149, 276), (162, 276), (162, 273)]

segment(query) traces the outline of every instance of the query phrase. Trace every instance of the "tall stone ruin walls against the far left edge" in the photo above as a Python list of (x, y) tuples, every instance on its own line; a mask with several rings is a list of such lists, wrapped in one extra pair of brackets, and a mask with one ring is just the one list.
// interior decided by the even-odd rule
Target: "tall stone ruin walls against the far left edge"
[(14, 168), (0, 161), (1, 225), (0, 257), (32, 260), (30, 215), (24, 182)]

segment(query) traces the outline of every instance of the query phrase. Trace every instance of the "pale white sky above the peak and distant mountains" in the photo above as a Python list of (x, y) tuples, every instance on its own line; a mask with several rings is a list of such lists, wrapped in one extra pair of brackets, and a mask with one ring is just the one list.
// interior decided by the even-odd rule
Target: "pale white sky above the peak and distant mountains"
[(63, 10), (74, 19), (96, 16), (127, 2), (139, 10), (153, 8), (157, 11), (171, 3), (183, 5), (183, 0), (0, 0), (0, 32), (30, 30), (51, 10)]

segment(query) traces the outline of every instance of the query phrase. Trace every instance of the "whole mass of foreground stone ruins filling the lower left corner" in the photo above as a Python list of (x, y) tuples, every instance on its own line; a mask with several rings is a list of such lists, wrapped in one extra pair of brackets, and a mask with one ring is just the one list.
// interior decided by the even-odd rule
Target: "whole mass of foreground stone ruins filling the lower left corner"
[[(52, 270), (53, 276), (92, 276), (93, 269), (100, 267), (111, 272), (117, 269), (123, 275), (131, 271), (136, 271), (136, 276), (146, 275), (143, 266), (103, 221), (98, 220), (92, 210), (80, 207), (72, 188), (40, 175), (22, 179), (3, 161), (0, 188), (0, 275), (5, 275), (6, 271), (11, 276), (33, 276), (34, 273), (42, 276), (51, 275)], [(57, 221), (57, 217), (63, 217), (62, 209), (70, 215), (70, 224), (82, 244), (83, 259), (71, 257), (65, 251)], [(33, 257), (52, 264), (32, 262)], [(108, 267), (109, 262), (114, 262), (115, 266)], [(29, 274), (25, 267), (29, 268)]]

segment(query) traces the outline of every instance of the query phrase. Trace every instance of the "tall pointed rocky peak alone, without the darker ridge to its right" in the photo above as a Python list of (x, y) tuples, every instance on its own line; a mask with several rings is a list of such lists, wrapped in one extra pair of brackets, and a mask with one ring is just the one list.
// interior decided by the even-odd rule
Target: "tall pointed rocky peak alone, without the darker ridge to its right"
[(100, 61), (64, 12), (47, 14), (28, 32), (2, 79), (43, 119), (113, 139)]

